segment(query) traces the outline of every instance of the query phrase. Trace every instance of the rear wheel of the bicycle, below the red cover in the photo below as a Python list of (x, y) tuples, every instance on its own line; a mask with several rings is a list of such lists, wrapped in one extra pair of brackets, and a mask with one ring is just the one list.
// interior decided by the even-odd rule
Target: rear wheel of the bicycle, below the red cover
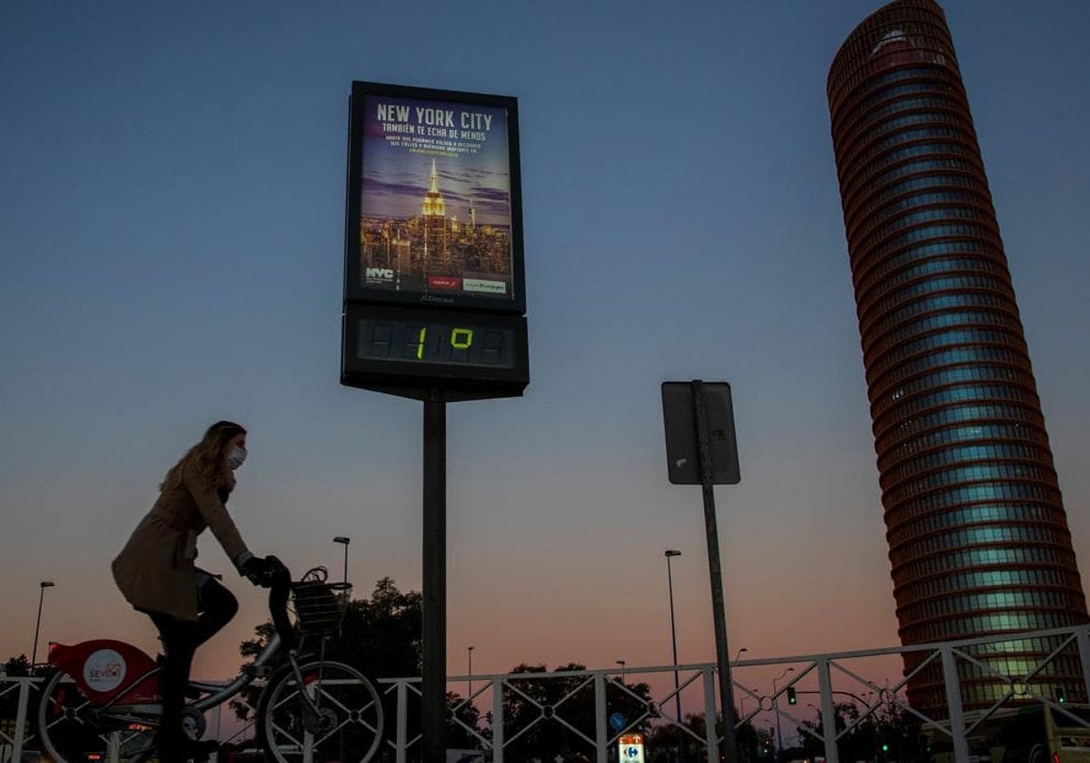
[(38, 734), (55, 763), (83, 763), (90, 754), (143, 763), (155, 753), (155, 727), (134, 714), (95, 707), (68, 674), (57, 671), (41, 690)]

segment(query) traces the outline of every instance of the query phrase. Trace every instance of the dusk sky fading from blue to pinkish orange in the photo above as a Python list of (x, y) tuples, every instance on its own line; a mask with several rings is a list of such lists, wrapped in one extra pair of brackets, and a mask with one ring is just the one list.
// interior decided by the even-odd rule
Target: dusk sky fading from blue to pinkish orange
[[(1090, 3), (947, 0), (1082, 572)], [(0, 5), (0, 659), (131, 640), (110, 560), (211, 422), (251, 548), (421, 584), (419, 402), (338, 384), (353, 80), (519, 99), (531, 383), (448, 408), (450, 671), (714, 659), (659, 385), (732, 385), (731, 651), (893, 646), (825, 76), (874, 0)], [(264, 619), (197, 656), (225, 677)], [(761, 674), (764, 675), (764, 674)], [(895, 676), (893, 678), (896, 678)], [(754, 679), (755, 680), (755, 679)]]

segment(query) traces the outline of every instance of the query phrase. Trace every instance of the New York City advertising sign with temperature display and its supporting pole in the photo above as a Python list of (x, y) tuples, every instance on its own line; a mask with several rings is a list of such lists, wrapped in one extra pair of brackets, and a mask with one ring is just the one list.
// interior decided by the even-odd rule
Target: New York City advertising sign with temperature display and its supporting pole
[(341, 384), (424, 404), (423, 761), (446, 760), (448, 401), (530, 382), (518, 104), (352, 83)]

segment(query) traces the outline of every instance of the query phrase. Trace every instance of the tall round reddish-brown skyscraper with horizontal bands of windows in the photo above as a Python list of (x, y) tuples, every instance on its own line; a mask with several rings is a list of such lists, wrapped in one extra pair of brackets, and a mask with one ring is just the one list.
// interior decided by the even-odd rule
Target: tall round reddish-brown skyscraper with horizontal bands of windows
[[(827, 95), (901, 642), (1086, 622), (942, 9), (896, 0), (865, 19), (837, 52)], [(986, 668), (961, 666), (966, 706), (1007, 690), (990, 669), (1026, 675), (1053, 649), (1025, 639), (976, 655)], [(1065, 654), (1030, 683), (1076, 699), (1080, 676)], [(937, 665), (911, 680), (909, 699), (943, 704)]]

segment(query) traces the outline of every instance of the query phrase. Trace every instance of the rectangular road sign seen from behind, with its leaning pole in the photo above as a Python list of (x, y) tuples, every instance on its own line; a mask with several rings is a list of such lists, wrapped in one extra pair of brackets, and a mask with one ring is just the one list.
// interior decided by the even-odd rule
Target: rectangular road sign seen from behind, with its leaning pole
[(707, 537), (707, 569), (712, 583), (715, 659), (719, 671), (723, 747), (727, 763), (736, 763), (739, 758), (734, 720), (734, 679), (730, 676), (730, 652), (727, 646), (714, 489), (716, 484), (737, 485), (741, 481), (730, 385), (704, 384), (694, 379), (689, 383), (664, 382), (662, 389), (669, 480), (675, 485), (699, 484), (704, 497), (704, 532)]

